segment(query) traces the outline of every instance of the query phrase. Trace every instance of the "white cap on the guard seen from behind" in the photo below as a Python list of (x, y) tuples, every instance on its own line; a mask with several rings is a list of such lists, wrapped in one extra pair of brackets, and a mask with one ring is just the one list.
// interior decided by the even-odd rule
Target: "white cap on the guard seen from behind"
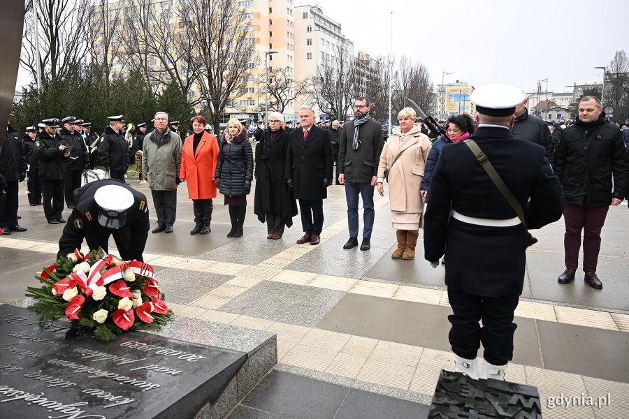
[(516, 105), (522, 103), (525, 94), (519, 87), (510, 84), (486, 84), (472, 92), (470, 100), (476, 111), (493, 117), (506, 117), (515, 112)]

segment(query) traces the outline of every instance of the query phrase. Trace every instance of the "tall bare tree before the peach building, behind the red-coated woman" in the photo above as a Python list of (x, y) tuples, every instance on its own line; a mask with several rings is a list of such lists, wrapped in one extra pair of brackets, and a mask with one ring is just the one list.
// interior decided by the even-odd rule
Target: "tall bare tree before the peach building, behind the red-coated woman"
[(225, 109), (234, 107), (247, 84), (245, 75), (256, 68), (253, 27), (245, 22), (234, 0), (188, 0), (180, 8), (182, 25), (198, 52), (198, 89), (201, 103), (210, 109), (210, 119), (219, 132)]

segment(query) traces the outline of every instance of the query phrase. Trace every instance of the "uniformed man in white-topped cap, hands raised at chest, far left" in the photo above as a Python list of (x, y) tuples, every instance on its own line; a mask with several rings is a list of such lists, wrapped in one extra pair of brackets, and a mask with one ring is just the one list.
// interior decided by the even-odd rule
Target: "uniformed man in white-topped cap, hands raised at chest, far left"
[(44, 119), (44, 131), (37, 135), (35, 147), (39, 158), (39, 175), (43, 181), (43, 205), (46, 220), (50, 224), (65, 223), (64, 211), (64, 178), (66, 177), (66, 160), (70, 150), (63, 138), (57, 134), (59, 119)]

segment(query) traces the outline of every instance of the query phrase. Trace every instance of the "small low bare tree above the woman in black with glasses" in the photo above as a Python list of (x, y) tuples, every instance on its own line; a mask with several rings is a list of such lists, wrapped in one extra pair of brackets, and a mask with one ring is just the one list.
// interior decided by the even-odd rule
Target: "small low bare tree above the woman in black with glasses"
[(293, 78), (290, 66), (269, 67), (268, 83), (265, 82), (263, 74), (258, 76), (258, 82), (262, 85), (258, 91), (259, 94), (265, 94), (268, 91), (268, 109), (277, 112), (284, 112), (284, 109), (289, 108), (291, 101), (308, 89), (306, 80)]

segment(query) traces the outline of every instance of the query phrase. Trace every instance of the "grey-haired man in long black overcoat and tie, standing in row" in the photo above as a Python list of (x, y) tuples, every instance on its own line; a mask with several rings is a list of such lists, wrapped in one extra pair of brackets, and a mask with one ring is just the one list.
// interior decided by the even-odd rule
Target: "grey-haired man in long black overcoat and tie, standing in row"
[(328, 131), (314, 126), (315, 112), (302, 108), (301, 128), (289, 134), (286, 179), (295, 189), (304, 235), (297, 244), (319, 244), (323, 229), (323, 200), (328, 197), (333, 168), (332, 143)]

